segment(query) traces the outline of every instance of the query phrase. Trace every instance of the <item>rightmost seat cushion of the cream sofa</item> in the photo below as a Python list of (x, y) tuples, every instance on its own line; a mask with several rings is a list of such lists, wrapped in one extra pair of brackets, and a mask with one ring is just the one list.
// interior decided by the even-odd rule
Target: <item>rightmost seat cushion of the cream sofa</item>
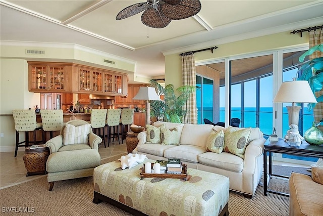
[(198, 155), (198, 162), (234, 172), (241, 172), (244, 165), (244, 160), (241, 157), (227, 152), (222, 152), (221, 154), (205, 152)]

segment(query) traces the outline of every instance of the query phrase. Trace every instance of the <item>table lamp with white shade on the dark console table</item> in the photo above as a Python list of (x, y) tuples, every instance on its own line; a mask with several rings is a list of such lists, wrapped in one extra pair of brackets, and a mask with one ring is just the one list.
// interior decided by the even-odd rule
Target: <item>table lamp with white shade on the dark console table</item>
[[(300, 106), (295, 106), (295, 103), (317, 103), (308, 82), (306, 80), (296, 80), (296, 78), (293, 78), (293, 81), (287, 81), (281, 84), (281, 87), (274, 98), (274, 102), (292, 103), (292, 106), (286, 106), (288, 123), (291, 129), (293, 128), (293, 126), (291, 126), (292, 124), (295, 124), (298, 127), (299, 111), (301, 109)], [(289, 144), (295, 146), (292, 141)], [(300, 144), (301, 142), (299, 145)], [(299, 145), (296, 144), (296, 146)]]

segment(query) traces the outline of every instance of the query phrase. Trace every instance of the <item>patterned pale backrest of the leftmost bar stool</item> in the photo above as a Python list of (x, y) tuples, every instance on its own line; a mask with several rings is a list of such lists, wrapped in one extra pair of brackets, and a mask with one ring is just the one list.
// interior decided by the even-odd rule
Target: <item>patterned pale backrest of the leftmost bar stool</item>
[(16, 131), (34, 131), (41, 127), (41, 123), (36, 122), (35, 110), (13, 110)]

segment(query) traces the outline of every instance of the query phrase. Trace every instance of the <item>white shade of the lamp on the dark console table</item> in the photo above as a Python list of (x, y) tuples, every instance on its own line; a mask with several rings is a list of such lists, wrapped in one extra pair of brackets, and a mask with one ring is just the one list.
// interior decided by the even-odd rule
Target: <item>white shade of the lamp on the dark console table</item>
[(274, 98), (274, 102), (317, 103), (306, 80), (283, 82)]

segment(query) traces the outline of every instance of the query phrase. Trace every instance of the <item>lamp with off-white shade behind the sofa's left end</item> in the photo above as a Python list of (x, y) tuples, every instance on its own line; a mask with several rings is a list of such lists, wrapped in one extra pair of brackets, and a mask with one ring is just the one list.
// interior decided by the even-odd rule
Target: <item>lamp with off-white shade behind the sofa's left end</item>
[(146, 101), (146, 124), (150, 124), (150, 104), (149, 101), (161, 101), (153, 87), (140, 87), (137, 95), (132, 98), (133, 100)]

